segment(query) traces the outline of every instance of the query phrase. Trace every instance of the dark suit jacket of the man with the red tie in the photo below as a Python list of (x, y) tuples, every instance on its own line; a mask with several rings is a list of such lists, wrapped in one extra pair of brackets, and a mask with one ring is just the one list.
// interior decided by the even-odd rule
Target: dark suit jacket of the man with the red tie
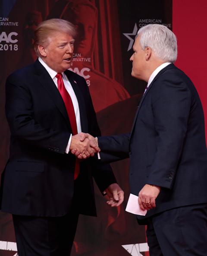
[[(82, 131), (100, 135), (88, 86), (66, 70), (78, 99)], [(75, 82), (74, 82), (75, 81)], [(69, 212), (75, 156), (65, 149), (72, 133), (63, 99), (37, 60), (6, 81), (10, 156), (2, 175), (1, 209), (17, 215), (62, 216)], [(90, 158), (80, 163), (79, 211), (96, 215), (94, 176), (100, 190), (116, 182), (108, 164)]]

